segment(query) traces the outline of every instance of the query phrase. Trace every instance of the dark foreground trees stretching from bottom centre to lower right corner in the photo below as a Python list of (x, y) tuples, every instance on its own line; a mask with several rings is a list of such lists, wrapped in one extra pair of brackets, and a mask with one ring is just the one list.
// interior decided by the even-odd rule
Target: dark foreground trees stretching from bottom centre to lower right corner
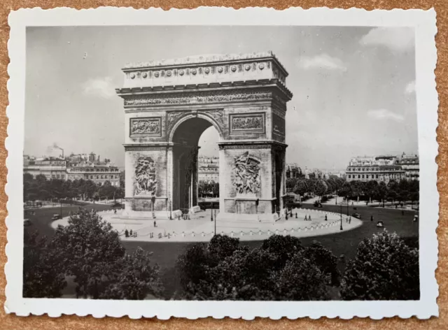
[[(317, 242), (304, 247), (298, 238), (271, 236), (251, 250), (237, 238), (218, 235), (179, 257), (176, 299), (419, 299), (418, 250), (396, 234), (365, 238), (343, 275), (337, 264), (337, 257)], [(335, 291), (337, 296), (331, 294)]]

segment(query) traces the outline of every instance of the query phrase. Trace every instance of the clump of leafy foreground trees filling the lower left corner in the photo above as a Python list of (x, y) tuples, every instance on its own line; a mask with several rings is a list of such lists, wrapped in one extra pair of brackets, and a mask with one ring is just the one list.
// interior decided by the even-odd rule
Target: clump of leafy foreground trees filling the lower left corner
[(23, 296), (57, 298), (66, 277), (76, 297), (90, 299), (159, 298), (163, 285), (151, 254), (140, 247), (127, 254), (117, 231), (92, 211), (80, 209), (51, 241), (25, 230)]

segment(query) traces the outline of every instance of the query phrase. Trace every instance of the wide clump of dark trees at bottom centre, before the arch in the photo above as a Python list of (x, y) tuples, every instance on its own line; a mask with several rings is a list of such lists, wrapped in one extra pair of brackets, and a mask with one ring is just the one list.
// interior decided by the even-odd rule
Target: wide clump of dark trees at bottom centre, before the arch
[(179, 256), (181, 299), (317, 300), (328, 299), (330, 270), (336, 258), (321, 245), (302, 247), (298, 238), (271, 236), (260, 248), (239, 247), (239, 240), (215, 237), (190, 246)]

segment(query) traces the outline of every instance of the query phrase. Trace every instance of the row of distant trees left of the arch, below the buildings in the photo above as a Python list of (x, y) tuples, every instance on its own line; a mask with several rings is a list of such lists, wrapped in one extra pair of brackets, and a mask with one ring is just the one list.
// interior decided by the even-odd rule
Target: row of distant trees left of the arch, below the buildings
[(92, 180), (47, 180), (45, 175), (29, 173), (23, 175), (24, 201), (45, 201), (48, 199), (120, 199), (125, 196), (122, 187), (111, 185), (105, 181), (104, 185), (97, 185)]

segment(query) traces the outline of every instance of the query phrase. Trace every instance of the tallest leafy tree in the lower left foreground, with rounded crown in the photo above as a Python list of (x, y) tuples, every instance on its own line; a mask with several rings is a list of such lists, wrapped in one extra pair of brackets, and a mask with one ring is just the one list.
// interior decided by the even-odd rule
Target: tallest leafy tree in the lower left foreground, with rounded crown
[(75, 276), (77, 296), (98, 299), (104, 292), (108, 274), (125, 255), (117, 231), (94, 210), (80, 208), (65, 227), (59, 225), (53, 238), (67, 275)]

